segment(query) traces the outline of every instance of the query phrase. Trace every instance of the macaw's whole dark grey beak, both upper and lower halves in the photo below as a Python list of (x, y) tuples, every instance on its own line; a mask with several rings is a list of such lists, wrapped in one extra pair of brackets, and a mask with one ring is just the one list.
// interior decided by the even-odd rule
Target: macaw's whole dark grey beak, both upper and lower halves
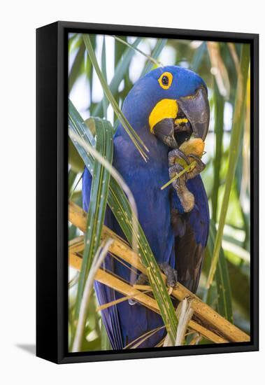
[[(178, 104), (178, 114), (180, 113), (181, 116), (185, 116), (189, 120), (187, 126), (177, 127), (176, 130), (176, 123), (174, 122), (176, 122), (177, 116), (175, 119), (165, 118), (153, 127), (153, 134), (171, 148), (178, 148), (176, 133), (178, 136), (180, 130), (186, 130), (188, 137), (193, 132), (194, 137), (201, 138), (204, 141), (210, 121), (210, 106), (206, 88), (201, 86), (193, 95), (180, 97), (180, 99), (176, 100), (176, 103)], [(192, 127), (192, 131), (190, 127)]]

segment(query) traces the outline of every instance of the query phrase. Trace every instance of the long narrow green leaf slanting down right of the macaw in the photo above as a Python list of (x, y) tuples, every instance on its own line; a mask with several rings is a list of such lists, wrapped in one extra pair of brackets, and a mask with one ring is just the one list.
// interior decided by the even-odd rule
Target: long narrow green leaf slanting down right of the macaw
[(238, 73), (238, 85), (236, 90), (236, 102), (233, 117), (233, 127), (231, 131), (231, 140), (229, 146), (229, 166), (227, 170), (227, 177), (225, 181), (224, 197), (222, 200), (222, 209), (220, 214), (220, 220), (215, 239), (215, 247), (213, 250), (213, 260), (210, 267), (210, 272), (207, 280), (207, 287), (213, 282), (215, 270), (220, 256), (220, 248), (222, 243), (222, 234), (224, 231), (225, 218), (227, 216), (227, 209), (229, 205), (229, 196), (231, 192), (231, 186), (234, 181), (234, 175), (236, 171), (236, 163), (238, 160), (238, 154), (241, 141), (241, 130), (243, 130), (243, 122), (245, 118), (245, 101), (246, 101), (246, 88), (248, 81), (248, 68), (250, 64), (250, 45), (243, 44), (241, 48), (240, 59), (240, 71)]

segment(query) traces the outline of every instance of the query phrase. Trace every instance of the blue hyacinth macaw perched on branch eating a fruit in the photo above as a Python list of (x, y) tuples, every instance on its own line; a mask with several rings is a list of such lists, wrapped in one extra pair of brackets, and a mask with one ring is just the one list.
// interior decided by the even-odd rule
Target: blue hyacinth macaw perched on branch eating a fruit
[[(201, 274), (203, 249), (209, 228), (208, 199), (199, 173), (203, 162), (168, 188), (161, 187), (182, 167), (176, 160), (186, 155), (179, 146), (192, 135), (206, 138), (209, 104), (204, 81), (194, 72), (179, 66), (154, 69), (140, 78), (124, 99), (122, 111), (149, 149), (145, 162), (120, 124), (114, 138), (113, 166), (134, 194), (138, 220), (169, 286), (178, 280), (196, 292)], [(83, 174), (83, 207), (89, 206), (92, 176)], [(106, 225), (124, 238), (110, 209)], [(106, 269), (130, 281), (131, 271), (108, 255)], [(141, 281), (143, 277), (139, 276)], [(122, 295), (95, 282), (99, 304)], [(141, 342), (146, 332), (163, 326), (161, 316), (134, 300), (126, 300), (102, 311), (103, 323), (113, 349)], [(166, 335), (165, 328), (150, 333), (139, 348), (154, 347)]]

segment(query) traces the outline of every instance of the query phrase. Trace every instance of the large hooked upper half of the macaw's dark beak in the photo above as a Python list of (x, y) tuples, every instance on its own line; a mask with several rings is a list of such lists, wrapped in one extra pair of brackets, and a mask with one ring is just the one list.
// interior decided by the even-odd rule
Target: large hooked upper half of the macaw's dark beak
[(192, 125), (194, 137), (206, 139), (210, 121), (210, 106), (206, 88), (201, 86), (195, 94), (188, 97), (180, 97), (178, 106)]

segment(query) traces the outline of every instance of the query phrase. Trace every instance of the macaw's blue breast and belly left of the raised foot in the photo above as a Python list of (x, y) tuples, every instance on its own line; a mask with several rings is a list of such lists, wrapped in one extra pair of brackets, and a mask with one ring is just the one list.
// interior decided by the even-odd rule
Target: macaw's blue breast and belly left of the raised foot
[(138, 221), (157, 262), (169, 262), (173, 248), (171, 201), (169, 189), (168, 148), (152, 135), (149, 160), (145, 162), (131, 141), (117, 137), (114, 141), (113, 166), (122, 175), (134, 195)]

